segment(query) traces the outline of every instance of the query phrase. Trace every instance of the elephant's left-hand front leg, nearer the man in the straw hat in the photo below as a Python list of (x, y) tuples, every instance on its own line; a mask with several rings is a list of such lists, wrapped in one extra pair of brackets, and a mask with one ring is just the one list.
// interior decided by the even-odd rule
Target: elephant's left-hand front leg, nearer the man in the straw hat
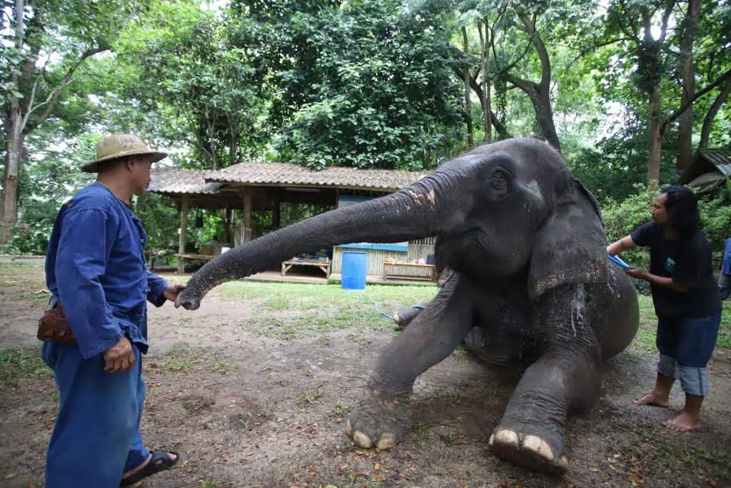
[(411, 428), (414, 380), (461, 344), (471, 328), (470, 296), (442, 290), (379, 356), (348, 416), (346, 431), (355, 443), (385, 449), (404, 440)]

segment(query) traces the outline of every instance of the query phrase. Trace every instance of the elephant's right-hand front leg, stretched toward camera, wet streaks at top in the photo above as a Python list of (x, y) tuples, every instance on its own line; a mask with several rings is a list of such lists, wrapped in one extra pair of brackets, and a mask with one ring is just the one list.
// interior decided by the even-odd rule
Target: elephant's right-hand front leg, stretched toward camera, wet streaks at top
[(539, 301), (534, 327), (546, 348), (526, 369), (490, 438), (503, 459), (544, 473), (564, 473), (569, 410), (583, 408), (601, 386), (601, 349), (581, 285), (561, 287)]

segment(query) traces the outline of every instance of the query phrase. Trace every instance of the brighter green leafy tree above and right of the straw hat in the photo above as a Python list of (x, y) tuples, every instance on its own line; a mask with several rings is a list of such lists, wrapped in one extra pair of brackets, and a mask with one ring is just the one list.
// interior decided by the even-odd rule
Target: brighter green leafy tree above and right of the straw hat
[(265, 144), (265, 83), (251, 67), (256, 46), (240, 39), (248, 40), (247, 29), (245, 19), (219, 17), (200, 2), (157, 1), (119, 42), (121, 90), (143, 110), (175, 121), (151, 129), (190, 144), (186, 167), (222, 168)]

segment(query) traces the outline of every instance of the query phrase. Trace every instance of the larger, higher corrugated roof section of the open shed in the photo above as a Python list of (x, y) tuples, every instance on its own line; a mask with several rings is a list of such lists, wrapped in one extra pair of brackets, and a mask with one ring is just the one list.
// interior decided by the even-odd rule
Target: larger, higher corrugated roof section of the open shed
[(206, 181), (238, 184), (307, 185), (358, 189), (401, 189), (424, 176), (426, 171), (360, 170), (329, 167), (316, 171), (281, 162), (242, 162), (208, 173)]

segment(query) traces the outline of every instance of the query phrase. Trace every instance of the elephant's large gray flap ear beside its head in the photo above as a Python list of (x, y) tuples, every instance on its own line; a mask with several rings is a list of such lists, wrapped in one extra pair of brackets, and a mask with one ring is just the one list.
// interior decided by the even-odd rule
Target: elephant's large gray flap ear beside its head
[(605, 280), (607, 237), (599, 206), (578, 179), (572, 179), (553, 214), (534, 239), (528, 276), (532, 299), (559, 285)]

